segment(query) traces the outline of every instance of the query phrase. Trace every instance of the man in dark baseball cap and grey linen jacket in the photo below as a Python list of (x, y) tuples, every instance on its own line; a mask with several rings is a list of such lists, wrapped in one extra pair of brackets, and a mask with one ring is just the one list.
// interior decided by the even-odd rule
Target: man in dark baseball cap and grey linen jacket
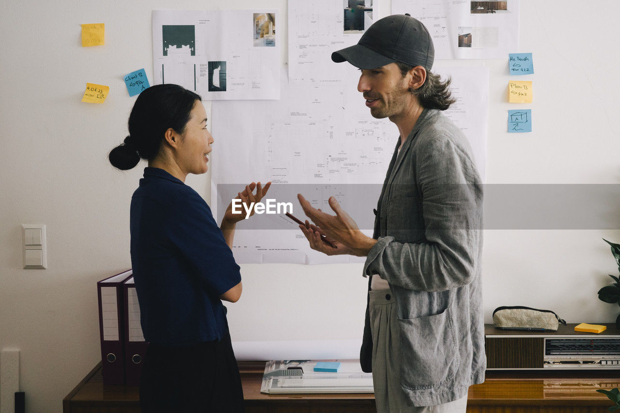
[(373, 371), (379, 412), (465, 412), (467, 389), (484, 381), (482, 185), (466, 137), (441, 113), (454, 100), (430, 72), (433, 57), (428, 30), (409, 15), (380, 19), (332, 53), (361, 69), (371, 115), (400, 133), (373, 238), (334, 197), (332, 216), (298, 195), (314, 222), (300, 225), (312, 249), (366, 257), (360, 361)]

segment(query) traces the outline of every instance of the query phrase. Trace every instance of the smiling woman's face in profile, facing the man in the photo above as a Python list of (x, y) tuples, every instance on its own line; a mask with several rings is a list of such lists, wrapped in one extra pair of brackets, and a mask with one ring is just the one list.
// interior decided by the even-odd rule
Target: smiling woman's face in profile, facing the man
[(196, 100), (185, 131), (180, 135), (177, 164), (184, 174), (204, 174), (207, 170), (207, 155), (211, 152), (213, 136), (206, 128), (206, 111), (200, 100)]

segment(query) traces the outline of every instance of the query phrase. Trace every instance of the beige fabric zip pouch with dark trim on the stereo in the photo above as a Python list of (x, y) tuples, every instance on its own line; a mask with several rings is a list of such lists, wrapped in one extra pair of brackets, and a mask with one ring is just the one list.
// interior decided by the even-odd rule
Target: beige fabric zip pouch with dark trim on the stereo
[(503, 330), (557, 331), (566, 321), (551, 310), (523, 306), (498, 307), (493, 311), (493, 324)]

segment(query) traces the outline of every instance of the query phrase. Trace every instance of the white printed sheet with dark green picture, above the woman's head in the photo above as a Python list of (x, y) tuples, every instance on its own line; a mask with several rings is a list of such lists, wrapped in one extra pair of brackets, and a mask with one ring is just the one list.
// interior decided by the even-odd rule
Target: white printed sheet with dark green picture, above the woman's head
[(263, 9), (154, 10), (154, 84), (179, 84), (206, 100), (280, 99), (278, 17)]

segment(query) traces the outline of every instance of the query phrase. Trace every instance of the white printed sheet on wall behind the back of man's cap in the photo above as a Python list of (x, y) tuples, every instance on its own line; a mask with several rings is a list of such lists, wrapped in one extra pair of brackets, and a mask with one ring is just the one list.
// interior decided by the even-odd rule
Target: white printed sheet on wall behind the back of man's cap
[(430, 32), (437, 59), (504, 59), (519, 50), (519, 0), (392, 0)]

